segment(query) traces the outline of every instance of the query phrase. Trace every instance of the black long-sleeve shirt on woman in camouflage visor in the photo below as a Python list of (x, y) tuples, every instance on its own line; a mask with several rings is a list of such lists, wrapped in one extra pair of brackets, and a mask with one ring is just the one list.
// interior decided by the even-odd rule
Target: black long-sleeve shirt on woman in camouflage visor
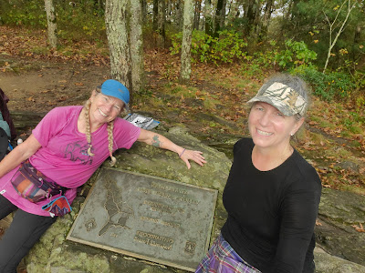
[(321, 183), (297, 150), (280, 166), (260, 171), (252, 163), (254, 143), (234, 147), (234, 163), (224, 187), (228, 212), (224, 239), (262, 272), (313, 272), (314, 226)]

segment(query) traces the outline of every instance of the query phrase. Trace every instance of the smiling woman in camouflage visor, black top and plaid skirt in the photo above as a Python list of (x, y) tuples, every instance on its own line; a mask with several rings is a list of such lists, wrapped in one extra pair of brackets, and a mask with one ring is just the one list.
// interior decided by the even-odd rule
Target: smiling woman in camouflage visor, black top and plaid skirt
[(321, 182), (290, 145), (307, 113), (307, 87), (274, 76), (248, 103), (251, 138), (235, 144), (224, 188), (228, 218), (196, 272), (314, 272)]

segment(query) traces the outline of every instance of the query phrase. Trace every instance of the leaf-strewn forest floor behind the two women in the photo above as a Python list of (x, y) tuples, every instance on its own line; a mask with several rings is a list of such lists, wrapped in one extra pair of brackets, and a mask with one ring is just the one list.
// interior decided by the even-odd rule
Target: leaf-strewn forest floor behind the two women
[[(0, 26), (0, 33), (0, 87), (10, 98), (11, 113), (42, 116), (55, 106), (81, 105), (110, 78), (105, 45), (61, 41), (56, 51), (47, 47), (42, 31)], [(223, 145), (247, 135), (245, 102), (275, 73), (248, 63), (193, 63), (191, 85), (182, 86), (179, 68), (179, 57), (168, 49), (146, 49), (146, 87), (134, 92), (131, 112), (153, 116), (161, 128), (186, 126), (208, 144)], [(365, 195), (364, 115), (363, 108), (312, 97), (296, 147), (316, 167), (324, 187)], [(20, 133), (25, 138), (30, 130)]]

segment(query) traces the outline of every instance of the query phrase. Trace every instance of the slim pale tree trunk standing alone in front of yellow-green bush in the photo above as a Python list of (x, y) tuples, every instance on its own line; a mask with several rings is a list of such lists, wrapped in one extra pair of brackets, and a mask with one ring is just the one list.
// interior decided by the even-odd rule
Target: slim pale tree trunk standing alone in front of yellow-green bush
[(182, 66), (180, 70), (180, 82), (188, 84), (192, 74), (191, 45), (193, 33), (193, 0), (185, 0), (183, 5), (183, 43)]

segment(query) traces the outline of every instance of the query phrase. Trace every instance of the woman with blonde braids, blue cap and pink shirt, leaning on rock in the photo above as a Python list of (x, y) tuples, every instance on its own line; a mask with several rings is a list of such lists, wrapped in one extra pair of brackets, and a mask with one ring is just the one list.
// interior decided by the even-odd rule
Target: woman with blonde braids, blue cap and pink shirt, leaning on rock
[(85, 106), (51, 110), (32, 135), (0, 162), (0, 219), (16, 210), (0, 241), (0, 272), (16, 272), (21, 259), (57, 218), (44, 210), (49, 203), (47, 198), (34, 203), (16, 192), (11, 180), (19, 173), (22, 162), (28, 160), (32, 170), (63, 187), (61, 198), (66, 197), (69, 204), (76, 197), (77, 187), (87, 182), (105, 159), (110, 157), (114, 165), (116, 159), (112, 153), (119, 148), (130, 148), (135, 141), (177, 153), (188, 168), (189, 160), (203, 166), (202, 152), (184, 149), (164, 136), (118, 117), (128, 108), (129, 101), (130, 93), (125, 86), (116, 80), (106, 80), (92, 92)]

